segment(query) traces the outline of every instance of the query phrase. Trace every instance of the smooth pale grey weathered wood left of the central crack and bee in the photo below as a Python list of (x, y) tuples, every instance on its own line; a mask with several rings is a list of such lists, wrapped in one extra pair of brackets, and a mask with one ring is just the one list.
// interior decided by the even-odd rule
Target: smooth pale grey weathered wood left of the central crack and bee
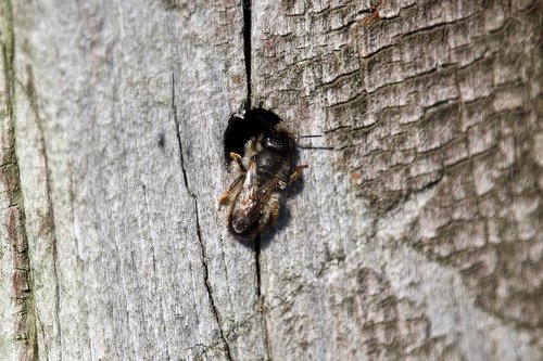
[(14, 1), (39, 357), (263, 357), (254, 255), (225, 241), (236, 1)]

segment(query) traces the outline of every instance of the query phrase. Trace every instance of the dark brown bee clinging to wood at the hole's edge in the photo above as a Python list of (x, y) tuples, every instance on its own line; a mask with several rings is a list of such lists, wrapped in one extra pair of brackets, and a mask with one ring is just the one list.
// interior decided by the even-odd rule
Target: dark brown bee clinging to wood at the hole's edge
[(252, 240), (274, 225), (281, 191), (307, 167), (292, 165), (295, 146), (289, 131), (274, 127), (251, 138), (243, 156), (229, 154), (238, 176), (218, 204), (228, 205), (228, 229), (238, 238)]

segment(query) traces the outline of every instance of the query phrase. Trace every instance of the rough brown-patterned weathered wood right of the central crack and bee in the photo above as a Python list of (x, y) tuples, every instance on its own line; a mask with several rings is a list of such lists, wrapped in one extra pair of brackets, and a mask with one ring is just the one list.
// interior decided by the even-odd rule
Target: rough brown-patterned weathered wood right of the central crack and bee
[(261, 255), (272, 359), (538, 360), (541, 2), (372, 3), (253, 3), (254, 102), (334, 147)]

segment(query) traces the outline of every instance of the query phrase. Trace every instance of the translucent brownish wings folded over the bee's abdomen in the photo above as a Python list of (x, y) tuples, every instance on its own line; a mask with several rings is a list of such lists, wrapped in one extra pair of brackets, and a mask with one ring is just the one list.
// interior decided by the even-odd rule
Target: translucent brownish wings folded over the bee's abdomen
[(243, 188), (232, 210), (231, 225), (237, 233), (248, 231), (258, 221), (263, 206), (279, 182), (279, 178), (274, 178), (258, 186), (255, 171), (256, 165), (250, 164)]

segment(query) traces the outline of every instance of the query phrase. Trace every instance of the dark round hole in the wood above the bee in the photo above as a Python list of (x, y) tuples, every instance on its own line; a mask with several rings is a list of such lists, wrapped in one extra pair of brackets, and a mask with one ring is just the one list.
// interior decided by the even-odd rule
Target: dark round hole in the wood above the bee
[(245, 143), (251, 138), (274, 128), (279, 123), (281, 123), (281, 118), (275, 113), (261, 107), (248, 111), (243, 118), (231, 116), (224, 136), (226, 164), (228, 165), (231, 160), (230, 152), (243, 156)]

